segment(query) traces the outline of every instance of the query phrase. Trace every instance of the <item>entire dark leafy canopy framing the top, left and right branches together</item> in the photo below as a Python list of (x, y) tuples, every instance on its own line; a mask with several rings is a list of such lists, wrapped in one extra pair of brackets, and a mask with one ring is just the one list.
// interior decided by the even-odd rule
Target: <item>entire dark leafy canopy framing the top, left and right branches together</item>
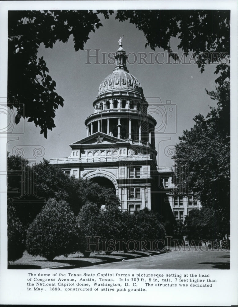
[[(48, 74), (43, 57), (37, 57), (41, 44), (53, 48), (56, 41), (67, 42), (74, 37), (75, 50), (84, 49), (88, 34), (102, 24), (113, 10), (89, 11), (10, 11), (8, 16), (8, 98), (9, 107), (18, 108), (15, 122), (28, 118), (47, 130), (55, 127), (55, 111), (63, 107), (64, 99), (55, 92), (56, 83)], [(220, 85), (229, 77), (230, 11), (229, 10), (118, 10), (116, 19), (130, 20), (142, 30), (151, 49), (168, 50), (169, 56), (179, 60), (173, 52), (170, 39), (178, 37), (179, 49), (185, 54), (192, 51), (201, 72), (205, 63), (216, 63), (216, 79)], [(19, 100), (24, 108), (14, 101)]]

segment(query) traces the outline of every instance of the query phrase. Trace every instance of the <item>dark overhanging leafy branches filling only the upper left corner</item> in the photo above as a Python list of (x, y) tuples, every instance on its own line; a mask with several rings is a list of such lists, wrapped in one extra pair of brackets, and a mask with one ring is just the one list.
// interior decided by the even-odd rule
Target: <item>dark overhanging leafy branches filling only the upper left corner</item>
[[(102, 24), (113, 11), (98, 10), (52, 10), (9, 11), (8, 14), (8, 106), (18, 108), (15, 122), (28, 118), (41, 128), (47, 138), (47, 130), (55, 127), (55, 111), (63, 107), (64, 99), (55, 91), (56, 83), (48, 74), (43, 56), (37, 56), (41, 44), (53, 48), (56, 41), (67, 42), (74, 38), (75, 51), (84, 49), (88, 34)], [(19, 109), (15, 103), (24, 104)]]

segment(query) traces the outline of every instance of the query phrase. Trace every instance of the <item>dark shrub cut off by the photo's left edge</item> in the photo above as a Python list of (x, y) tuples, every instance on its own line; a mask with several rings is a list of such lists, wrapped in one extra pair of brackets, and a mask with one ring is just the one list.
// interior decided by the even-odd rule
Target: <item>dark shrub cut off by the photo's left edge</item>
[(7, 260), (14, 262), (22, 257), (25, 250), (25, 229), (11, 206), (7, 208), (7, 225)]

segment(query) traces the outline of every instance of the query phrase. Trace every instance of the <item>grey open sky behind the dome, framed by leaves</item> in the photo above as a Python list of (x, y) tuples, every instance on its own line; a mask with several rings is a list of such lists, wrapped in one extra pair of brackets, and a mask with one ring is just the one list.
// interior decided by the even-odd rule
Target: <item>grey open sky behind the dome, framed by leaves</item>
[[(128, 64), (127, 68), (143, 87), (144, 96), (149, 103), (148, 113), (157, 120), (158, 126), (161, 126), (161, 114), (164, 110), (168, 112), (162, 124), (166, 125), (166, 129), (155, 130), (158, 132), (155, 134), (155, 146), (158, 166), (171, 167), (173, 151), (169, 149), (173, 149), (179, 142), (178, 137), (182, 136), (184, 130), (190, 130), (194, 125), (192, 119), (195, 115), (201, 113), (206, 116), (210, 106), (216, 106), (217, 102), (211, 100), (205, 91), (205, 88), (209, 91), (215, 90), (216, 65), (205, 65), (205, 71), (201, 73), (193, 61), (190, 61), (190, 64), (168, 64), (167, 52), (158, 48), (153, 51), (148, 46), (145, 48), (146, 38), (143, 32), (129, 21), (119, 22), (115, 20), (115, 14), (106, 20), (102, 15), (99, 15), (99, 18), (102, 18), (103, 27), (89, 34), (90, 39), (84, 45), (85, 50), (75, 52), (72, 36), (67, 43), (56, 42), (53, 49), (40, 46), (38, 56), (43, 56), (46, 61), (49, 74), (56, 81), (56, 92), (65, 100), (64, 107), (59, 107), (56, 111), (56, 128), (48, 131), (47, 139), (40, 134), (40, 128), (35, 127), (33, 122), (21, 119), (14, 129), (24, 133), (19, 134), (18, 140), (8, 143), (8, 151), (10, 154), (16, 154), (16, 146), (23, 145), (24, 157), (29, 159), (32, 157), (32, 146), (43, 146), (44, 154), (37, 158), (37, 162), (43, 157), (50, 159), (70, 155), (69, 144), (86, 137), (84, 121), (94, 112), (92, 103), (96, 99), (100, 83), (114, 69), (113, 64), (102, 64), (102, 52), (106, 52), (107, 62), (107, 54), (117, 51), (118, 39), (124, 34), (123, 49), (127, 53), (136, 54), (136, 58), (133, 54), (129, 56), (129, 63), (133, 63), (134, 59), (135, 63)], [(177, 51), (181, 56), (182, 51), (177, 50), (178, 44), (177, 38), (171, 39), (173, 51)], [(86, 49), (91, 49), (90, 55), (95, 55), (95, 49), (100, 49), (101, 64), (95, 64), (95, 58), (90, 58), (91, 64), (86, 64), (89, 52)], [(147, 62), (150, 62), (149, 52), (153, 52), (152, 64), (139, 63), (139, 52), (146, 52)], [(158, 61), (164, 60), (164, 64), (156, 63), (155, 55), (158, 52), (164, 52), (164, 56), (158, 56)], [(189, 62), (189, 57), (190, 55), (186, 63)], [(171, 59), (170, 62), (174, 61)], [(168, 116), (166, 100), (171, 101), (173, 107), (172, 119)], [(159, 110), (163, 110), (162, 113)]]

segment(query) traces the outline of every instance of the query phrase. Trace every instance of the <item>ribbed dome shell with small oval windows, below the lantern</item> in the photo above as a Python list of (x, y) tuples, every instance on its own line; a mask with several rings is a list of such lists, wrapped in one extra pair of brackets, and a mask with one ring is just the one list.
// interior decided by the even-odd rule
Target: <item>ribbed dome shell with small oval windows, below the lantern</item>
[(106, 91), (132, 91), (143, 95), (139, 81), (124, 69), (116, 69), (100, 84), (98, 95)]

